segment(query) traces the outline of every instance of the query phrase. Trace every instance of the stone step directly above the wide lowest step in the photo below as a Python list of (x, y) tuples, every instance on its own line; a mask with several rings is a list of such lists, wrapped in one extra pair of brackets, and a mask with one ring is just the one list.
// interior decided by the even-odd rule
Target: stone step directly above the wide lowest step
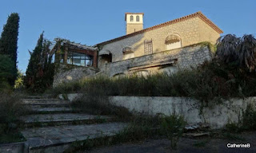
[(62, 113), (62, 114), (37, 114), (20, 117), (23, 127), (46, 127), (68, 124), (95, 124), (102, 122), (114, 121), (114, 117), (110, 116), (94, 116), (78, 113)]

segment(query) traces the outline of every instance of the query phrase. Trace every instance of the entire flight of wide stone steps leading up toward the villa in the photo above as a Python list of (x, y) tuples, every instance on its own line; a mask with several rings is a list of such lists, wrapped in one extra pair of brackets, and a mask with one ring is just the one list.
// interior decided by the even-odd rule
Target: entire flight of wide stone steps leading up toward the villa
[(79, 113), (68, 100), (29, 96), (22, 101), (32, 110), (20, 117), (21, 132), (27, 140), (25, 152), (29, 153), (63, 152), (74, 142), (112, 136), (127, 125), (114, 116)]

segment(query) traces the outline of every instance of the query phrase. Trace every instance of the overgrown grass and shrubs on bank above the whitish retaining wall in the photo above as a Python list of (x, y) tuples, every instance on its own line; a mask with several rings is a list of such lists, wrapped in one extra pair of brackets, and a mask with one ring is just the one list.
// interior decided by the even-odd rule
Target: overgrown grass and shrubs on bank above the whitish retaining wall
[(256, 96), (255, 38), (251, 35), (234, 37), (240, 41), (233, 43), (229, 37), (234, 36), (220, 38), (214, 59), (206, 61), (197, 69), (147, 77), (95, 77), (60, 84), (54, 88), (54, 92), (97, 92), (101, 89), (105, 91), (104, 96), (188, 96), (206, 105), (214, 99)]

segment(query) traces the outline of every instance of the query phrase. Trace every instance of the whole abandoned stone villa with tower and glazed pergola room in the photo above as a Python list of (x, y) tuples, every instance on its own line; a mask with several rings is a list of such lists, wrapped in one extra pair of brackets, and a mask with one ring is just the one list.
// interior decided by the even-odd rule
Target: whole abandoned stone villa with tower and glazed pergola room
[[(57, 39), (51, 55), (54, 62), (66, 65), (54, 76), (54, 86), (82, 77), (146, 76), (197, 66), (211, 59), (206, 42), (215, 44), (223, 33), (201, 12), (146, 29), (143, 17), (143, 13), (126, 13), (126, 35), (94, 46)], [(67, 65), (77, 66), (62, 70)]]

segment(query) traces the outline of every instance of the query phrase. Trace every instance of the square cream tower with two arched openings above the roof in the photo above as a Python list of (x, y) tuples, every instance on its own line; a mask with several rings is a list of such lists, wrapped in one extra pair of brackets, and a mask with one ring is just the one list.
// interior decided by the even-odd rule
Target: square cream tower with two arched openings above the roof
[(126, 34), (134, 33), (143, 29), (143, 13), (126, 13)]

